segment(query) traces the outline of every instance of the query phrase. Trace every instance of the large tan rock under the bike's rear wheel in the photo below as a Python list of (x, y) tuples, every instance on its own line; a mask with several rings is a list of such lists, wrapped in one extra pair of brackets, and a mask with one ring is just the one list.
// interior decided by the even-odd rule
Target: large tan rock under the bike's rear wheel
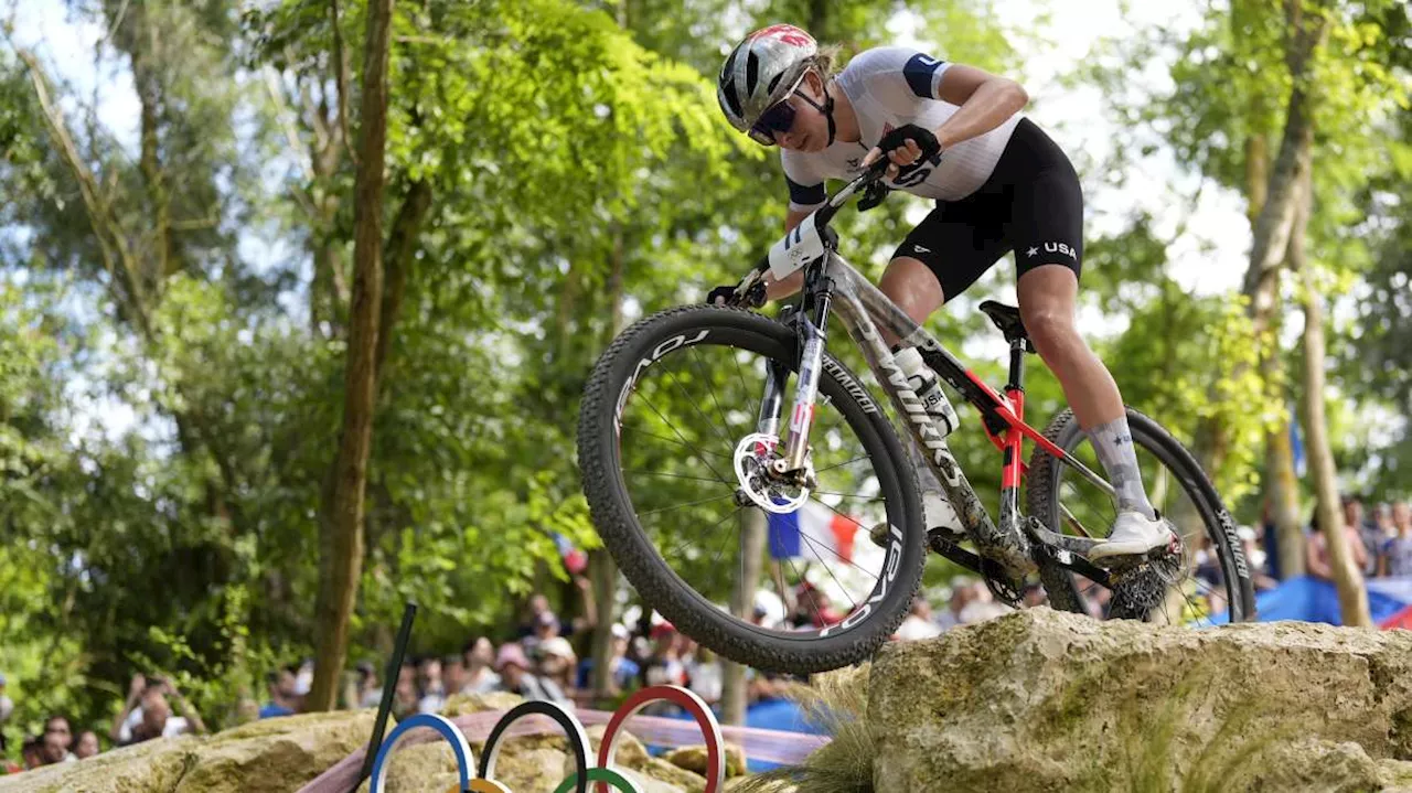
[(1412, 632), (1209, 631), (1048, 608), (888, 646), (874, 787), (1375, 790), (1408, 785)]

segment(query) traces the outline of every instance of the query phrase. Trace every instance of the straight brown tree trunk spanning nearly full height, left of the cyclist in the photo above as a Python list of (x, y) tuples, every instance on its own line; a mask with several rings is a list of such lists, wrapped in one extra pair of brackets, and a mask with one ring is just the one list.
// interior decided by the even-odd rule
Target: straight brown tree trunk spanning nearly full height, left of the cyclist
[(377, 337), (383, 301), (383, 165), (387, 144), (387, 62), (393, 0), (373, 0), (367, 10), (367, 58), (359, 128), (359, 165), (353, 205), (353, 305), (345, 368), (343, 428), (333, 466), (325, 522), (328, 552), (321, 567), (315, 614), (313, 689), (305, 710), (330, 710), (347, 655), (349, 617), (363, 569), (363, 494), (373, 442), (377, 394)]

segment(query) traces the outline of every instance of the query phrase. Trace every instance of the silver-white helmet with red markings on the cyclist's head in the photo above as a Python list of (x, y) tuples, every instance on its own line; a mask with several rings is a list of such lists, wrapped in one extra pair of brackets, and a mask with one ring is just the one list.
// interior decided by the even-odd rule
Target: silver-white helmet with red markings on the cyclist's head
[(747, 35), (716, 79), (716, 100), (730, 126), (774, 145), (768, 130), (754, 130), (755, 121), (799, 87), (818, 54), (813, 37), (794, 25), (770, 25)]

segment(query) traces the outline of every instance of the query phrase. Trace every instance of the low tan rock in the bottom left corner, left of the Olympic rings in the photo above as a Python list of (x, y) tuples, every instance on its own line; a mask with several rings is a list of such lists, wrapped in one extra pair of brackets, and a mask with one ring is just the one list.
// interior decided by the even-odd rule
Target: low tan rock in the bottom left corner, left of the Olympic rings
[(371, 732), (373, 711), (270, 718), (0, 777), (0, 793), (292, 792), (364, 746)]

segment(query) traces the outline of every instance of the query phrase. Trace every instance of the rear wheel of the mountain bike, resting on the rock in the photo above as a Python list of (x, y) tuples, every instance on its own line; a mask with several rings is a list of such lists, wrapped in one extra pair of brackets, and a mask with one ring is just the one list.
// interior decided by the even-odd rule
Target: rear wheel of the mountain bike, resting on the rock
[[(1053, 559), (1038, 559), (1039, 579), (1053, 608), (1096, 617), (1180, 625), (1255, 618), (1255, 594), (1230, 512), (1196, 459), (1151, 418), (1128, 408), (1128, 428), (1148, 500), (1182, 539), (1178, 557), (1154, 562), (1103, 587)], [(1103, 471), (1073, 411), (1063, 411), (1045, 437), (1093, 471)], [(1029, 514), (1051, 531), (1107, 536), (1117, 519), (1111, 497), (1077, 470), (1035, 447), (1029, 459)]]

